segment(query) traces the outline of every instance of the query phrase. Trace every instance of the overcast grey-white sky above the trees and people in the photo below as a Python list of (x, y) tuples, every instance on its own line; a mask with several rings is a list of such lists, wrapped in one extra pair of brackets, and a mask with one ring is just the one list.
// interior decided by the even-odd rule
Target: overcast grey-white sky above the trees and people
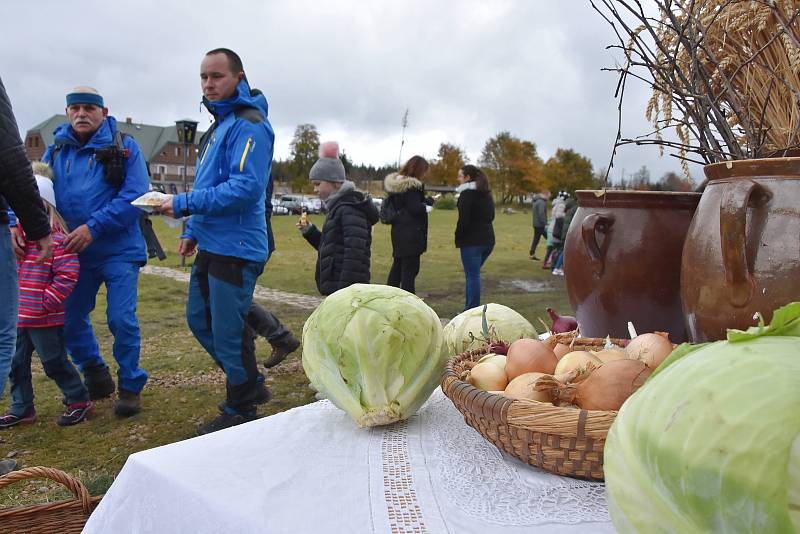
[[(588, 0), (138, 1), (3, 3), (0, 77), (22, 135), (54, 113), (75, 85), (96, 87), (118, 119), (205, 129), (199, 66), (216, 47), (236, 50), (270, 104), (276, 158), (295, 127), (312, 123), (355, 162), (396, 162), (462, 147), (472, 162), (500, 131), (606, 167), (617, 131), (618, 54)], [(623, 135), (647, 133), (649, 91), (629, 83)], [(655, 149), (620, 149), (618, 180), (647, 165), (652, 179), (680, 172)], [(693, 173), (696, 167), (693, 168)]]

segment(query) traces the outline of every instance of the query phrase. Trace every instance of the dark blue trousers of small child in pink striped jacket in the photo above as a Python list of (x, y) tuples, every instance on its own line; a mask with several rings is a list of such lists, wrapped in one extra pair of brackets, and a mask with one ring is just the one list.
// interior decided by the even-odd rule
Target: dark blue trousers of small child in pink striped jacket
[(67, 357), (64, 329), (61, 326), (20, 328), (17, 331), (17, 350), (11, 364), (9, 413), (22, 417), (28, 409), (33, 408), (31, 356), (34, 350), (42, 360), (44, 373), (55, 381), (64, 394), (64, 402), (72, 404), (89, 400), (89, 391), (83, 385), (81, 375)]

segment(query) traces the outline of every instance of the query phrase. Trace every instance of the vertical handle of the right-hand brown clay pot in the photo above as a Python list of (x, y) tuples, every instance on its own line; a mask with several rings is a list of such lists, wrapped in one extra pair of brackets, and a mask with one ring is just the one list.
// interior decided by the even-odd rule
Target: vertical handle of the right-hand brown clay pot
[(746, 306), (755, 290), (747, 257), (747, 206), (754, 193), (766, 194), (766, 191), (752, 180), (726, 183), (719, 205), (722, 264), (725, 281), (731, 289), (728, 299), (736, 308)]

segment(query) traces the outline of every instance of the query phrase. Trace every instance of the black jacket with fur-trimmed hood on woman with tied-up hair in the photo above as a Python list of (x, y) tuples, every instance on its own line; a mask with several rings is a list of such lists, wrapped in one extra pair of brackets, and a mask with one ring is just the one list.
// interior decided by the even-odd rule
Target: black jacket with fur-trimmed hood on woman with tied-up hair
[[(428, 212), (425, 186), (416, 178), (392, 173), (383, 181), (388, 193), (384, 203), (394, 213), (392, 256), (419, 256), (428, 249)], [(382, 207), (382, 209), (384, 209)]]

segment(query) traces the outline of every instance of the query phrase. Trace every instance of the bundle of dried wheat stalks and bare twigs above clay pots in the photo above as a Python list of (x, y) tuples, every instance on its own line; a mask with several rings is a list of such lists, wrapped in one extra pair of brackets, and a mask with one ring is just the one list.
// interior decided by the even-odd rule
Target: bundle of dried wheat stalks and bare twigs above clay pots
[[(713, 163), (800, 147), (800, 0), (652, 0), (647, 10), (639, 0), (598, 3), (619, 39), (612, 48), (626, 58), (606, 70), (620, 74), (619, 88), (628, 77), (653, 88), (645, 114), (654, 131), (618, 132), (615, 150), (655, 144), (684, 162)], [(667, 129), (678, 142), (664, 139)]]

